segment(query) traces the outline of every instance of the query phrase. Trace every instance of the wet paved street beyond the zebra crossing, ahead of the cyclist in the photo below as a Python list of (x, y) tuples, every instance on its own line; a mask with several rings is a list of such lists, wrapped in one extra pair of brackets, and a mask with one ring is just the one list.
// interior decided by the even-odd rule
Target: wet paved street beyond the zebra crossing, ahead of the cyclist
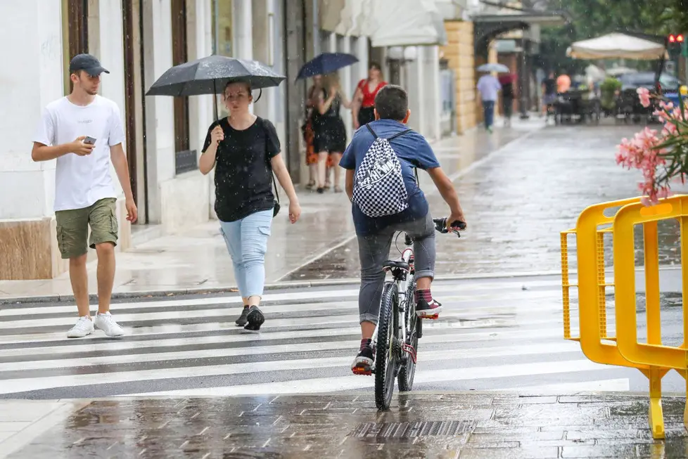
[[(548, 127), (477, 164), (454, 182), (469, 230), (461, 238), (437, 235), (438, 275), (561, 269), (560, 231), (573, 228), (588, 205), (637, 195), (639, 175), (622, 169), (614, 159), (620, 139), (635, 131), (625, 126)], [(452, 153), (461, 154), (460, 147)], [(421, 188), (429, 195), (433, 216), (444, 216), (447, 206), (437, 193), (431, 194), (432, 183), (422, 173)], [(680, 264), (677, 222), (663, 221), (658, 231), (661, 264)], [(573, 238), (570, 246), (575, 249)], [(636, 264), (642, 266), (640, 227), (636, 249)], [(350, 240), (285, 280), (357, 278), (357, 251), (357, 241)], [(393, 244), (391, 255), (398, 253)], [(571, 262), (575, 269), (575, 257)], [(611, 240), (606, 244), (606, 264), (612, 265)]]

